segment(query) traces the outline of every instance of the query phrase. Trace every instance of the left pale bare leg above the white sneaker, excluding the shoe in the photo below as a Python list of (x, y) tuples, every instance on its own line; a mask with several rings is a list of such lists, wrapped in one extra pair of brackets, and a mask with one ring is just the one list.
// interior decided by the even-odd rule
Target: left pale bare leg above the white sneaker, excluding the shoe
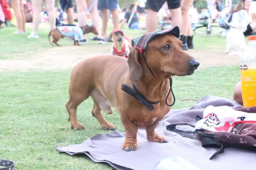
[(42, 11), (43, 0), (31, 0), (33, 6), (33, 33), (37, 33), (41, 21), (40, 12)]

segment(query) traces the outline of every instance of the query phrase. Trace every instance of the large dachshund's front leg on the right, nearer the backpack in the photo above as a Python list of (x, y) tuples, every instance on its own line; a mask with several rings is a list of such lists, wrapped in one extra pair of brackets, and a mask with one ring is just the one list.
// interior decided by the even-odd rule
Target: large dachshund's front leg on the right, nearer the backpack
[(164, 137), (158, 135), (157, 132), (155, 131), (157, 123), (158, 122), (156, 122), (153, 125), (146, 126), (147, 140), (150, 142), (168, 143)]

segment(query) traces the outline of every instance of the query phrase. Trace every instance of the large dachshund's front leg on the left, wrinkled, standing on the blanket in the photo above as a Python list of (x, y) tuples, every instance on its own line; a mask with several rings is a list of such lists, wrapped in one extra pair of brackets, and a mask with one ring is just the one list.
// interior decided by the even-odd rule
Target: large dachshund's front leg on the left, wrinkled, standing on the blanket
[(124, 151), (135, 151), (137, 149), (138, 127), (131, 120), (122, 120), (125, 129), (125, 140), (122, 145)]

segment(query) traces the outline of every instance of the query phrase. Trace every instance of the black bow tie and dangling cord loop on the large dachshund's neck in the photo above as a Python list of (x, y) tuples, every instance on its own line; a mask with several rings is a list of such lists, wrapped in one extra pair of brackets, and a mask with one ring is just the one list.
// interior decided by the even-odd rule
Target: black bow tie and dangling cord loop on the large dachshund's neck
[[(169, 92), (168, 92), (168, 94), (167, 94), (167, 96), (166, 96), (165, 103), (166, 103), (166, 105), (168, 105), (168, 106), (173, 106), (174, 103), (175, 103), (175, 96), (174, 96), (174, 93), (173, 93), (173, 91), (172, 91), (172, 78), (171, 78), (171, 77), (169, 77), (169, 82), (170, 82), (170, 89), (169, 89)], [(135, 85), (134, 85), (133, 82), (132, 82), (132, 85), (133, 85), (133, 89), (132, 89), (131, 87), (129, 87), (128, 85), (126, 85), (126, 84), (122, 84), (122, 85), (121, 85), (121, 89), (122, 89), (125, 93), (128, 93), (129, 95), (134, 96), (134, 98), (137, 99), (142, 105), (145, 105), (145, 107), (146, 107), (148, 110), (152, 111), (152, 110), (154, 109), (154, 106), (153, 106), (152, 104), (157, 104), (157, 103), (159, 103), (160, 101), (157, 101), (157, 102), (150, 102), (150, 101), (148, 101), (148, 100), (144, 97), (144, 95), (142, 95), (142, 94), (138, 91), (138, 89), (135, 87)], [(167, 103), (167, 98), (168, 98), (170, 92), (171, 92), (171, 94), (172, 94), (172, 96), (173, 96), (173, 102), (172, 102), (171, 105), (169, 105), (169, 104)]]

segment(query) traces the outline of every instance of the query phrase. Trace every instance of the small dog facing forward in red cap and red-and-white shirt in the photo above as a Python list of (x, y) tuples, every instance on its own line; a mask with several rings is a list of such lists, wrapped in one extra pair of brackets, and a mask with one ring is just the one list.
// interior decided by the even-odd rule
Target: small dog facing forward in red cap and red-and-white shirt
[(121, 29), (114, 29), (110, 33), (110, 38), (113, 39), (113, 44), (111, 46), (111, 55), (124, 56), (128, 58), (129, 52), (132, 49), (131, 41), (124, 36)]

